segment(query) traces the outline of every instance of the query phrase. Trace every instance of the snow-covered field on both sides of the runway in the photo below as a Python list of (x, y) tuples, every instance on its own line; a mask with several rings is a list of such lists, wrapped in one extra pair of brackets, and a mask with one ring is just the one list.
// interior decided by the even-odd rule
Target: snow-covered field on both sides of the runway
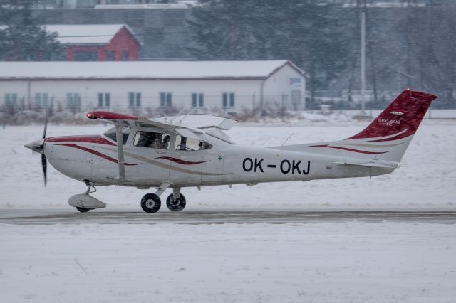
[[(229, 134), (239, 144), (271, 146), (291, 133), (290, 144), (342, 139), (366, 124), (240, 125)], [(49, 125), (48, 137), (105, 129)], [(22, 147), (41, 132), (41, 126), (0, 129), (0, 213), (26, 208), (68, 211), (68, 197), (85, 190), (81, 182), (52, 167), (43, 188), (39, 155)], [(455, 138), (455, 120), (427, 120), (405, 153), (403, 166), (393, 174), (202, 191), (184, 188), (186, 209), (456, 211)], [(94, 196), (111, 211), (142, 213), (139, 200), (147, 192), (99, 187)], [(75, 210), (74, 216), (84, 214)], [(0, 248), (1, 302), (8, 303), (450, 303), (456, 297), (456, 224), (445, 221), (0, 223)]]

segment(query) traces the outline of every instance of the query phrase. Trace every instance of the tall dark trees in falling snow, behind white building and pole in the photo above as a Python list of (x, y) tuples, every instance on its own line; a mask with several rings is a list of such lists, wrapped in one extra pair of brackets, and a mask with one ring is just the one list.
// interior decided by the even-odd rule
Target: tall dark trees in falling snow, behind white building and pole
[(372, 1), (343, 8), (313, 0), (202, 0), (188, 21), (198, 43), (189, 50), (202, 60), (289, 59), (308, 75), (312, 107), (318, 90), (348, 90), (348, 98), (359, 90), (364, 11), (373, 105), (390, 102), (380, 92), (411, 87), (439, 95), (436, 107), (455, 107), (454, 6), (408, 0), (385, 9), (366, 8), (366, 2)]

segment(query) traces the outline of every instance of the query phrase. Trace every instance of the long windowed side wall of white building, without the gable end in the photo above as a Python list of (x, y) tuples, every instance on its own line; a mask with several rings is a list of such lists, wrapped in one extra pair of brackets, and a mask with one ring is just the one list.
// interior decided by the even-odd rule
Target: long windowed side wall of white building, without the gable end
[(128, 110), (129, 92), (141, 94), (141, 109), (160, 107), (160, 92), (172, 94), (173, 107), (192, 107), (192, 93), (203, 94), (204, 108), (222, 108), (222, 94), (234, 93), (234, 108), (252, 108), (259, 96), (260, 80), (14, 80), (0, 81), (1, 105), (5, 94), (17, 95), (17, 106), (40, 107), (37, 93), (47, 94), (53, 106), (67, 108), (68, 93), (78, 94), (81, 106), (77, 110), (98, 108), (98, 93), (110, 95), (109, 110)]

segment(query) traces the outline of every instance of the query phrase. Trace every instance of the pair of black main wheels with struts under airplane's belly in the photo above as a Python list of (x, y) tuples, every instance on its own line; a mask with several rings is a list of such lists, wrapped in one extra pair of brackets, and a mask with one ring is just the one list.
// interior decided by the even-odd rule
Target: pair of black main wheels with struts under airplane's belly
[[(142, 211), (156, 213), (160, 209), (160, 206), (162, 206), (160, 195), (166, 188), (167, 186), (160, 186), (155, 193), (146, 193), (141, 199)], [(185, 208), (185, 204), (185, 196), (180, 193), (180, 187), (172, 188), (172, 193), (166, 199), (167, 208), (170, 211), (182, 211)]]

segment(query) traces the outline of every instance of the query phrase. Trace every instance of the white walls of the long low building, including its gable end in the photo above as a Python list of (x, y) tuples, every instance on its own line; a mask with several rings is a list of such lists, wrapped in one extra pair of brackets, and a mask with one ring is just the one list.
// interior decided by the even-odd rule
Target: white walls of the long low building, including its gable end
[[(290, 78), (301, 79), (301, 90), (305, 89), (305, 78), (287, 65), (278, 70), (268, 80), (0, 80), (0, 105), (6, 106), (6, 94), (17, 95), (17, 107), (43, 107), (37, 102), (36, 94), (46, 94), (48, 105), (53, 100), (54, 108), (68, 108), (68, 94), (78, 95), (81, 100), (76, 111), (98, 108), (98, 94), (109, 94), (108, 110), (125, 111), (130, 109), (130, 92), (140, 93), (141, 106), (138, 110), (160, 107), (160, 92), (172, 94), (172, 107), (192, 107), (192, 94), (202, 94), (204, 108), (208, 110), (222, 109), (224, 112), (239, 112), (261, 106), (261, 83), (263, 98), (270, 104), (279, 104), (289, 110), (296, 110), (291, 102), (284, 102), (284, 96), (290, 98), (293, 85)], [(234, 94), (234, 106), (223, 106), (223, 96), (229, 99)], [(41, 97), (42, 98), (42, 97)], [(289, 99), (290, 100), (290, 99)], [(39, 100), (38, 100), (39, 101)], [(272, 103), (275, 102), (275, 103)], [(71, 106), (70, 106), (71, 107)], [(103, 108), (105, 107), (103, 103)], [(299, 107), (301, 109), (302, 107)], [(273, 107), (278, 110), (279, 107)]]

